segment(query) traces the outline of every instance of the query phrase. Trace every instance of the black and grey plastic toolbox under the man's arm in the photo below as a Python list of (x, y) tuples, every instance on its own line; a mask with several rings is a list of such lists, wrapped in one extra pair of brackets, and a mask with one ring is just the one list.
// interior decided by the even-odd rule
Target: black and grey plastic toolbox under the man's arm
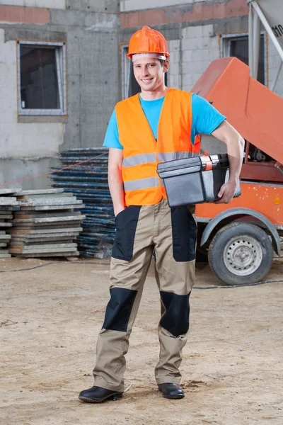
[[(229, 179), (228, 155), (192, 154), (187, 158), (158, 164), (157, 173), (163, 180), (170, 207), (214, 202), (219, 200), (217, 194)], [(240, 195), (238, 183), (234, 198)]]

